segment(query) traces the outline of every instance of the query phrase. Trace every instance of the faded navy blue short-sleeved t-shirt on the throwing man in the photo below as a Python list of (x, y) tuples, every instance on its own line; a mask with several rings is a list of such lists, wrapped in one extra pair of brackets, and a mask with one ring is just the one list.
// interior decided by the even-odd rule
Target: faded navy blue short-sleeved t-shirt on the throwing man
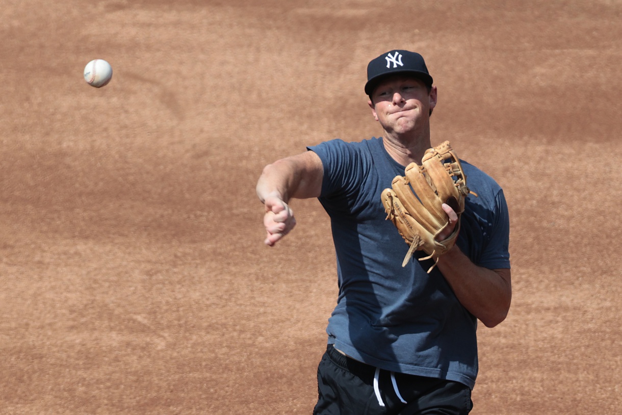
[[(458, 301), (432, 259), (409, 246), (386, 212), (381, 192), (405, 166), (382, 138), (340, 139), (308, 147), (323, 163), (320, 203), (331, 219), (339, 295), (328, 320), (328, 343), (378, 368), (459, 381), (470, 388), (478, 371), (476, 319)], [(468, 195), (457, 245), (475, 264), (510, 268), (509, 218), (503, 190), (461, 161)]]

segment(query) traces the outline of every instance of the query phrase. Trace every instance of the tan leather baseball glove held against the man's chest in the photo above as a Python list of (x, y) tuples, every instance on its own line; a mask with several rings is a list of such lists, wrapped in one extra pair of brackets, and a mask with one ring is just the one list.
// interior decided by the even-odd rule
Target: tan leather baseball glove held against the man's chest
[[(466, 187), (466, 175), (449, 141), (427, 149), (421, 166), (411, 163), (406, 167), (405, 176), (393, 179), (392, 189), (384, 189), (382, 199), (386, 218), (411, 246), (402, 267), (406, 266), (414, 251), (422, 250), (428, 256), (419, 261), (433, 258), (434, 265), (427, 272), (432, 271), (439, 256), (455, 245), (465, 197), (470, 193), (477, 196)], [(437, 241), (435, 237), (449, 225), (443, 203), (457, 213), (458, 223), (450, 236)]]

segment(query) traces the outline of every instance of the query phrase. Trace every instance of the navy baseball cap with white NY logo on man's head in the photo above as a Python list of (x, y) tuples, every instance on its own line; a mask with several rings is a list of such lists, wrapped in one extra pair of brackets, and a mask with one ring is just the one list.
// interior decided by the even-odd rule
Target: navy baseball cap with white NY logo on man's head
[(409, 50), (391, 50), (368, 63), (365, 93), (371, 95), (382, 78), (396, 73), (414, 75), (426, 86), (432, 86), (432, 77), (421, 55)]

